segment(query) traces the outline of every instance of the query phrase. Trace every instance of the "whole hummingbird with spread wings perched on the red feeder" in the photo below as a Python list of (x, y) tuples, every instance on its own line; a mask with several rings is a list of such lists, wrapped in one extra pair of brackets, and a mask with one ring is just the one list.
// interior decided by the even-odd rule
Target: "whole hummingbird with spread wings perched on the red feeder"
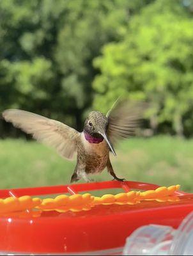
[(77, 154), (71, 182), (79, 179), (89, 182), (89, 174), (101, 173), (105, 167), (115, 180), (123, 181), (114, 173), (109, 153), (116, 156), (113, 145), (135, 134), (143, 110), (142, 102), (132, 104), (128, 100), (117, 100), (107, 115), (91, 111), (82, 132), (57, 120), (20, 109), (6, 109), (3, 118), (36, 140), (54, 147), (62, 157), (72, 159)]

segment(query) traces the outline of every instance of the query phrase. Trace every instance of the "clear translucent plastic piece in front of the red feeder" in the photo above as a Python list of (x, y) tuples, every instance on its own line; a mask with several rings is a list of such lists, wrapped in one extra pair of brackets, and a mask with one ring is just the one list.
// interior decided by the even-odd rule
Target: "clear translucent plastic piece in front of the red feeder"
[(162, 225), (137, 228), (123, 249), (123, 255), (193, 255), (193, 212), (178, 229)]

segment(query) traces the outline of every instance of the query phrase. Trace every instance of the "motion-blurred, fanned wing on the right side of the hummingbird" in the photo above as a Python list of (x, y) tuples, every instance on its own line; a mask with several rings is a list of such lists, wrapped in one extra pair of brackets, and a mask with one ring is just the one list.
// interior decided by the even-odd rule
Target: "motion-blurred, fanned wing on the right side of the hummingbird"
[(143, 118), (146, 104), (122, 100), (115, 102), (107, 113), (109, 125), (107, 136), (112, 143), (135, 134)]

